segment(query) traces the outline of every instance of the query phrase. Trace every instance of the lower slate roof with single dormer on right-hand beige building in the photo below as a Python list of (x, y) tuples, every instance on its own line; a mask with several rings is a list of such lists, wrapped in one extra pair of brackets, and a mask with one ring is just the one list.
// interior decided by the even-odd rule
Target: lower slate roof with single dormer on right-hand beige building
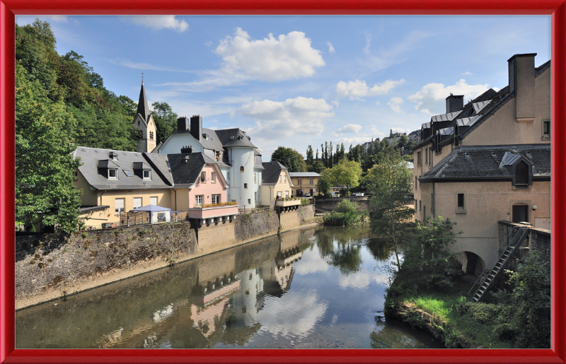
[[(506, 153), (507, 156), (506, 156)], [(421, 182), (442, 180), (509, 180), (513, 176), (501, 164), (521, 155), (533, 165), (533, 177), (550, 177), (550, 144), (516, 146), (462, 146), (419, 178)], [(517, 158), (517, 157), (513, 157)], [(515, 160), (516, 161), (516, 160)]]

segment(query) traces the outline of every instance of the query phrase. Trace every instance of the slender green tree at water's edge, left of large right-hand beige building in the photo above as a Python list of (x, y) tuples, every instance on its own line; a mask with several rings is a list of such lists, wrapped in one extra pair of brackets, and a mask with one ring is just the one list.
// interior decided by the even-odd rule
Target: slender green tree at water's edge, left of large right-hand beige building
[(399, 252), (412, 228), (410, 218), (415, 210), (407, 206), (405, 194), (412, 191), (412, 175), (408, 171), (399, 151), (393, 147), (378, 154), (379, 163), (372, 167), (362, 180), (371, 193), (371, 230), (391, 241), (401, 269)]

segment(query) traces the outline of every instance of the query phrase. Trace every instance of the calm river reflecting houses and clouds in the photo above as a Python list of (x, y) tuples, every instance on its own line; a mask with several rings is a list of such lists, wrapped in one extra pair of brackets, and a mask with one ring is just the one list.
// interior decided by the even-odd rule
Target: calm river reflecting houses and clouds
[(442, 348), (383, 317), (395, 255), (293, 230), (16, 312), (16, 348)]

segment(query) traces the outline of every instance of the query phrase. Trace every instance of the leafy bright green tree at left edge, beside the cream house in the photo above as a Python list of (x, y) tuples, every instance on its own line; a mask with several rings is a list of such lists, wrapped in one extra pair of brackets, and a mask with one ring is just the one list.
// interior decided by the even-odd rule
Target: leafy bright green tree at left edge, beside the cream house
[(73, 184), (80, 161), (65, 131), (76, 120), (25, 74), (16, 62), (16, 218), (73, 231), (82, 225), (81, 191)]

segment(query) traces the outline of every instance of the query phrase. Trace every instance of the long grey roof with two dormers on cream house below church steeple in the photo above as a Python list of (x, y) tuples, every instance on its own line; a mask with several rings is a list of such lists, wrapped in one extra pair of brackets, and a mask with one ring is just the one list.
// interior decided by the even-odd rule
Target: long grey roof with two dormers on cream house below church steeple
[[(109, 159), (110, 152), (117, 154), (117, 160)], [(82, 165), (79, 171), (88, 184), (95, 189), (162, 189), (173, 185), (167, 155), (79, 147), (73, 152), (73, 156), (81, 158)], [(105, 160), (107, 162), (101, 163)], [(137, 166), (140, 166), (139, 163), (141, 163), (144, 168), (151, 169), (153, 171), (151, 180), (144, 180), (141, 169), (134, 168), (134, 163)], [(106, 177), (108, 167), (100, 167), (100, 165), (117, 168), (117, 180), (109, 180)], [(132, 176), (128, 177), (124, 170), (129, 170)]]

